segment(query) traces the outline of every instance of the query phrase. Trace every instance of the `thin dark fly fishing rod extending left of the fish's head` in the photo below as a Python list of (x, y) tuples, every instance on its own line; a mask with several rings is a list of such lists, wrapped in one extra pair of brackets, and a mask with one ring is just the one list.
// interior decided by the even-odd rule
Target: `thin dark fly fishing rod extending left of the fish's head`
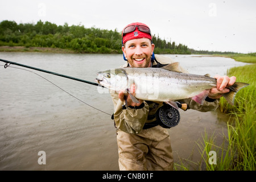
[[(0, 61), (6, 63), (6, 64), (5, 64), (5, 68), (7, 68), (7, 67), (9, 67), (11, 64), (13, 64), (13, 65), (18, 65), (18, 66), (20, 66), (20, 67), (25, 67), (25, 68), (29, 68), (29, 69), (34, 69), (34, 70), (36, 70), (36, 71), (40, 71), (40, 72), (44, 72), (44, 73), (49, 73), (49, 74), (52, 74), (52, 75), (56, 75), (56, 76), (60, 76), (60, 77), (64, 77), (64, 78), (69, 78), (69, 79), (76, 80), (76, 81), (81, 81), (81, 82), (84, 82), (84, 83), (86, 83), (86, 84), (95, 85), (95, 86), (101, 86), (100, 84), (97, 84), (97, 83), (94, 83), (94, 82), (91, 82), (91, 81), (82, 80), (82, 79), (80, 79), (80, 78), (75, 78), (75, 77), (71, 77), (71, 76), (67, 76), (67, 75), (62, 75), (62, 74), (55, 73), (55, 72), (50, 72), (50, 71), (47, 71), (47, 70), (44, 70), (44, 69), (40, 69), (40, 68), (30, 67), (30, 66), (28, 66), (28, 65), (15, 63), (15, 62), (13, 62), (13, 61), (7, 61), (7, 60), (3, 60), (3, 59), (0, 59)], [(101, 87), (104, 87), (104, 86), (101, 86)]]

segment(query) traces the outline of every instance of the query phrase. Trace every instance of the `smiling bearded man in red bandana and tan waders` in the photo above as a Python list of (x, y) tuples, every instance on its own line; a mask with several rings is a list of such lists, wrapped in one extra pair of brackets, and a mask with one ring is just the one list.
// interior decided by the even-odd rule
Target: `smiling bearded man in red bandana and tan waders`
[[(122, 51), (127, 61), (122, 67), (160, 68), (173, 63), (170, 58), (154, 55), (150, 28), (143, 23), (131, 23), (122, 31)], [(187, 72), (180, 68), (182, 72)], [(236, 77), (217, 78), (217, 88), (210, 89), (204, 104), (189, 99), (180, 100), (188, 109), (212, 111), (218, 107), (218, 98), (229, 92), (226, 86), (233, 85)], [(131, 92), (135, 85), (131, 86)], [(171, 141), (166, 128), (158, 125), (156, 113), (164, 104), (161, 102), (133, 102), (125, 91), (112, 93), (114, 123), (117, 129), (117, 144), (120, 170), (172, 170)], [(127, 101), (126, 103), (124, 101)], [(127, 104), (125, 107), (124, 104)]]

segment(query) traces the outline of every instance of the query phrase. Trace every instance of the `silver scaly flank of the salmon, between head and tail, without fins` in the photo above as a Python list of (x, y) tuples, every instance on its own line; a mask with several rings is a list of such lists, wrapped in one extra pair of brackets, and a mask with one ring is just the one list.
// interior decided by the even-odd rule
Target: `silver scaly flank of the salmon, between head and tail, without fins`
[(150, 101), (170, 101), (190, 98), (216, 86), (216, 79), (172, 72), (159, 68), (122, 68), (129, 86), (136, 85), (135, 97)]

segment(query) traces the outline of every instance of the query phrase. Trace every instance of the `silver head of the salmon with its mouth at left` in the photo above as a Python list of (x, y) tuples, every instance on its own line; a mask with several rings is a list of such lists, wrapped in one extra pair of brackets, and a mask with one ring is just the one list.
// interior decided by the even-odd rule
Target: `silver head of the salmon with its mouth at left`
[(105, 88), (119, 92), (127, 88), (126, 72), (121, 68), (101, 71), (97, 73), (96, 82)]

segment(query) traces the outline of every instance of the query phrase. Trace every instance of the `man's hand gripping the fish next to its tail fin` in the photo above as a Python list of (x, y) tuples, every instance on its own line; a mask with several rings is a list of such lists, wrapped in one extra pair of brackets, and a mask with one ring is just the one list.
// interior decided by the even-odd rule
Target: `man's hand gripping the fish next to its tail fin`
[(209, 91), (208, 97), (212, 99), (218, 99), (222, 97), (222, 94), (228, 93), (229, 86), (232, 86), (236, 82), (236, 77), (220, 76), (216, 75), (214, 78), (217, 79), (217, 88), (212, 88)]

